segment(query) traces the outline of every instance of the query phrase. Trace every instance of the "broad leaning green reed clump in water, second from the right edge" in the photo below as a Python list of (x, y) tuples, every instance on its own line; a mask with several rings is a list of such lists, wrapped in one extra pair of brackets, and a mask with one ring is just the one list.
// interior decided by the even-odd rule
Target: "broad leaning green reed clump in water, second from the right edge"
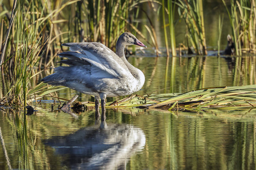
[(203, 1), (179, 0), (178, 11), (187, 25), (188, 37), (196, 54), (207, 55)]

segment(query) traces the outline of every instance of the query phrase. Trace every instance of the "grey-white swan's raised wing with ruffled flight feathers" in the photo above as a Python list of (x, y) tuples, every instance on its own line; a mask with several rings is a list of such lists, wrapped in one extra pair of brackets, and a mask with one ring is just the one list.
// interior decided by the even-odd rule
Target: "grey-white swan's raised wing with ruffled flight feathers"
[(60, 53), (60, 57), (69, 58), (70, 65), (77, 61), (90, 63), (91, 65), (109, 73), (115, 77), (123, 77), (130, 74), (125, 63), (112, 50), (99, 42), (71, 42), (65, 43), (71, 51)]

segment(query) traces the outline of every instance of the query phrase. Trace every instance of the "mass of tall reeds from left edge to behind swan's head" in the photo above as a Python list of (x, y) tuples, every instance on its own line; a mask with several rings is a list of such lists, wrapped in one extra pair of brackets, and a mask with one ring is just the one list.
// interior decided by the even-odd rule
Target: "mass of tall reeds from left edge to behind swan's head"
[[(6, 98), (14, 96), (15, 104), (25, 106), (27, 100), (31, 101), (30, 95), (34, 95), (31, 92), (39, 97), (45, 91), (57, 90), (42, 88), (38, 75), (42, 73), (40, 69), (55, 66), (56, 55), (63, 50), (62, 42), (100, 41), (114, 48), (117, 37), (124, 31), (142, 35), (133, 25), (139, 10), (133, 1), (14, 2), (16, 8), (13, 5), (10, 20), (5, 15), (7, 10), (0, 13), (0, 40), (4, 44), (0, 66), (6, 73), (3, 79), (11, 82), (6, 87)], [(67, 11), (69, 15), (65, 15)]]

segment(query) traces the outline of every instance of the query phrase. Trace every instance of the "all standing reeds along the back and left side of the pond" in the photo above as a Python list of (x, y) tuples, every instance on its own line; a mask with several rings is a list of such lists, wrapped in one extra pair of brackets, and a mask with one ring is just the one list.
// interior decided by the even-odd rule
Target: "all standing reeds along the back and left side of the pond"
[[(230, 17), (233, 38), (236, 42), (236, 54), (241, 49), (255, 52), (255, 1), (230, 1), (229, 8), (223, 1)], [(159, 11), (162, 7), (164, 36), (169, 55), (171, 44), (172, 56), (176, 56), (175, 12), (178, 11), (187, 25), (187, 37), (197, 54), (207, 54), (204, 30), (203, 1), (14, 1), (12, 8), (1, 2), (0, 19), (0, 67), (5, 86), (1, 101), (12, 101), (14, 105), (23, 105), (62, 87), (50, 87), (40, 84), (44, 72), (42, 69), (54, 67), (56, 55), (63, 50), (61, 43), (75, 41), (99, 41), (114, 49), (117, 37), (124, 31), (133, 32), (154, 46), (158, 55), (154, 24), (144, 10), (143, 5)], [(155, 7), (155, 4), (158, 5)], [(65, 12), (69, 15), (65, 15)], [(146, 36), (139, 31), (139, 14), (144, 13), (149, 25)], [(165, 17), (168, 16), (168, 19)], [(221, 35), (222, 20), (219, 32)], [(169, 31), (167, 27), (169, 26)], [(170, 32), (170, 33), (168, 33)], [(219, 36), (219, 40), (220, 40)], [(170, 41), (169, 41), (170, 40)], [(220, 41), (218, 42), (220, 46)], [(237, 62), (242, 62), (237, 59)], [(1, 64), (2, 63), (2, 64)], [(172, 69), (174, 69), (172, 62)], [(171, 65), (170, 65), (171, 66)], [(168, 68), (166, 67), (166, 71)], [(173, 73), (173, 72), (172, 72)], [(166, 78), (167, 82), (168, 78)], [(45, 88), (42, 88), (45, 86)], [(39, 90), (38, 92), (35, 92)], [(1, 92), (2, 93), (2, 92)]]

